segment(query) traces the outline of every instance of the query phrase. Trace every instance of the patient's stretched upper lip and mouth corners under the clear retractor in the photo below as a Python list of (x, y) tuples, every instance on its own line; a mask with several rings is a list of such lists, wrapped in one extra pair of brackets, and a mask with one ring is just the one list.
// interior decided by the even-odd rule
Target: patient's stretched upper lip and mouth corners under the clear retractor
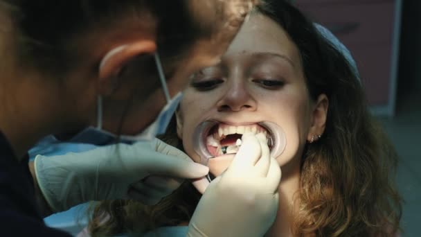
[[(217, 121), (217, 120), (208, 120), (200, 123), (194, 134), (193, 134), (193, 147), (195, 152), (201, 158), (201, 164), (207, 165), (209, 159), (213, 159), (213, 155), (208, 151), (206, 147), (206, 137), (208, 136), (210, 130), (215, 127), (217, 124), (225, 124), (225, 125), (233, 125), (233, 126), (241, 126), (241, 125), (260, 125), (262, 128), (265, 128), (273, 139), (273, 146), (271, 148), (271, 157), (278, 157), (282, 154), (283, 150), (286, 146), (286, 139), (285, 139), (285, 132), (283, 132), (282, 128), (272, 122), (268, 121), (260, 121), (256, 123), (230, 123), (226, 121)], [(220, 156), (223, 157), (223, 156)]]

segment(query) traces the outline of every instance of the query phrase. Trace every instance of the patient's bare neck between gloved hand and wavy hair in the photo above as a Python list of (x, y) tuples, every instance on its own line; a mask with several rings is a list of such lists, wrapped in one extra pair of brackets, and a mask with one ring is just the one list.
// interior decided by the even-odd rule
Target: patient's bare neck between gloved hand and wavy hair
[[(299, 159), (297, 159), (299, 160)], [(299, 162), (299, 161), (298, 161)], [(296, 207), (296, 198), (294, 195), (300, 188), (300, 166), (298, 164), (289, 164), (288, 167), (284, 168), (289, 170), (289, 173), (284, 172), (278, 189), (279, 193), (279, 206), (278, 213), (274, 225), (267, 231), (265, 236), (276, 237), (276, 236), (292, 236), (292, 225), (294, 218), (294, 211)]]

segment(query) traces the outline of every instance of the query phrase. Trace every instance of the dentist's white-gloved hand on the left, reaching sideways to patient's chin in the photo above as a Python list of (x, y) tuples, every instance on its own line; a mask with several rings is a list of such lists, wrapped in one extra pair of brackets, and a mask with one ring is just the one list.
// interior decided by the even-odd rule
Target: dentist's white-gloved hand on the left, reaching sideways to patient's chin
[(181, 179), (208, 173), (208, 167), (159, 139), (55, 157), (38, 155), (34, 166), (39, 188), (55, 212), (91, 200), (130, 198), (155, 204), (178, 188)]

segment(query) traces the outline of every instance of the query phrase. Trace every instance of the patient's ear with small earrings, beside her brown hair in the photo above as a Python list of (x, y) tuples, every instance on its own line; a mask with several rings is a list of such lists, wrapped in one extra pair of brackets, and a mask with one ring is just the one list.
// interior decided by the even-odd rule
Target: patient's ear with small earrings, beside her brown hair
[(312, 111), (312, 124), (307, 134), (307, 141), (312, 143), (317, 141), (326, 128), (326, 120), (328, 119), (329, 99), (325, 94), (321, 94), (317, 98), (316, 104)]

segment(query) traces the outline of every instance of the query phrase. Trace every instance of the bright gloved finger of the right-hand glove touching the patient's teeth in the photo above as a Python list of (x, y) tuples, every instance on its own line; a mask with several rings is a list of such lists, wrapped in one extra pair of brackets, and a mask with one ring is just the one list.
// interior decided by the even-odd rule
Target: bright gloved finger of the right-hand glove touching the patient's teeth
[(256, 165), (260, 159), (261, 148), (260, 142), (253, 133), (245, 133), (242, 135), (242, 145), (235, 155), (231, 165), (229, 166), (228, 173), (237, 173), (238, 171), (244, 172), (249, 168)]

